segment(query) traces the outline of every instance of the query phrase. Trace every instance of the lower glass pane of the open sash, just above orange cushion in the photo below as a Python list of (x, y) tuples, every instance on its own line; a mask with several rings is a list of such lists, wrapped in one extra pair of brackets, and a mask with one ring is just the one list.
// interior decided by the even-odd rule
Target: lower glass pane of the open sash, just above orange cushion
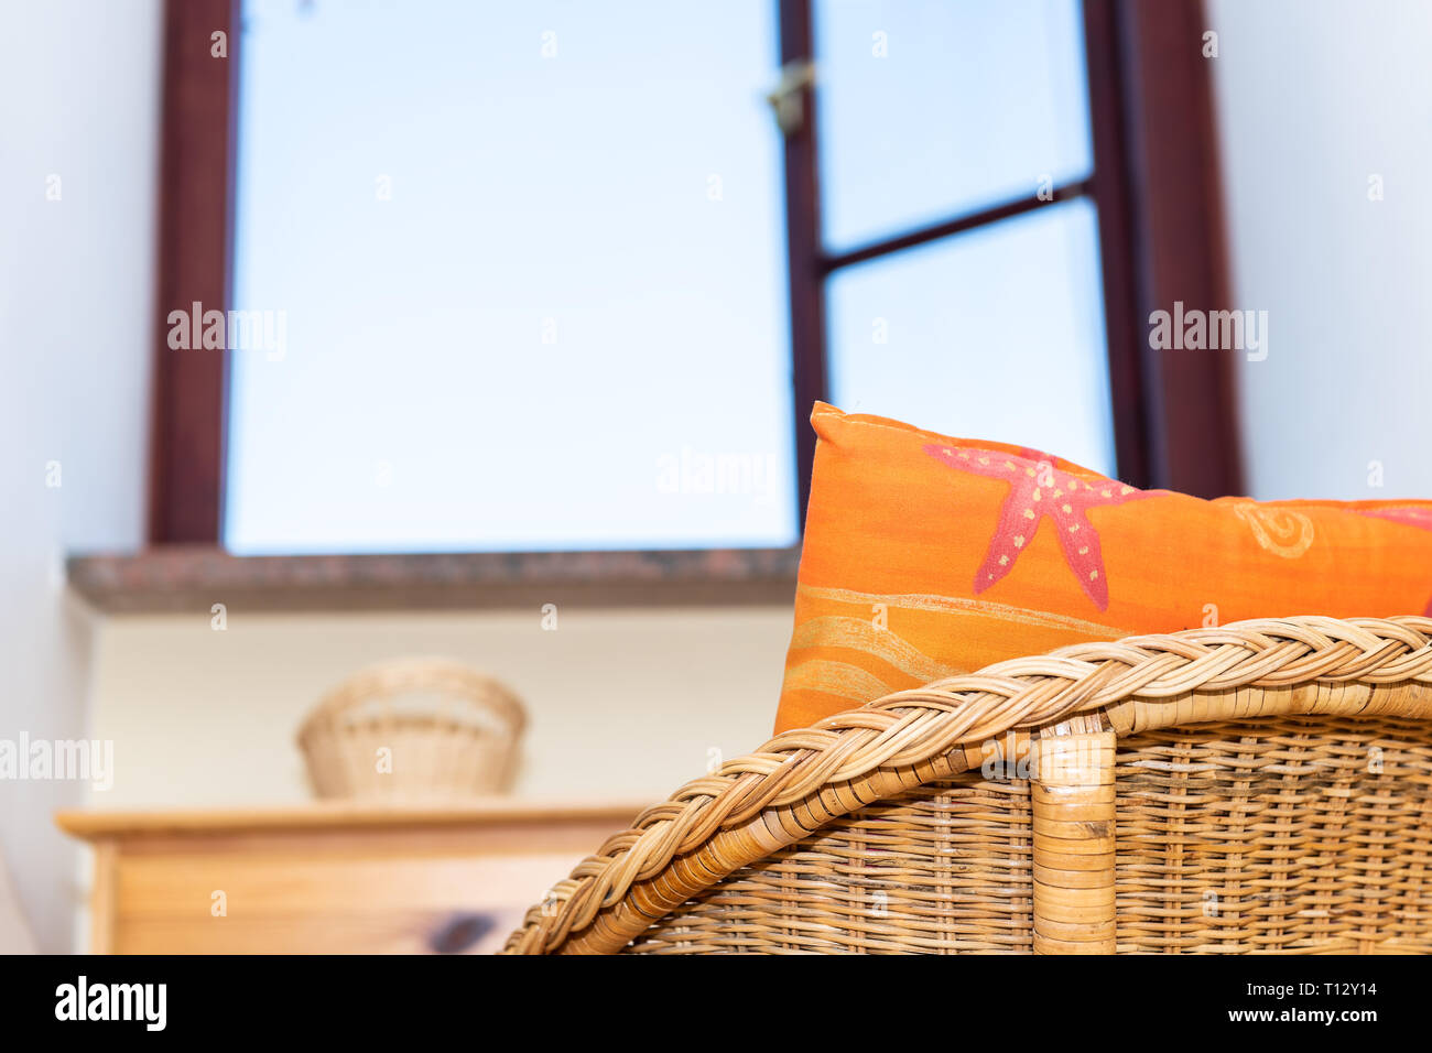
[(835, 404), (1113, 474), (1097, 238), (1074, 199), (838, 271)]

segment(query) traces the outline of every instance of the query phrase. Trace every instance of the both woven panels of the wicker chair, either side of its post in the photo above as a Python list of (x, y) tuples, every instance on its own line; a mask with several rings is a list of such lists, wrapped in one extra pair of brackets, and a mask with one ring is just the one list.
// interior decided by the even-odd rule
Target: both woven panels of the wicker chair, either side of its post
[[(656, 921), (627, 950), (1031, 953), (1027, 765), (832, 821)], [(1120, 953), (1432, 950), (1432, 725), (1260, 718), (1114, 754)]]

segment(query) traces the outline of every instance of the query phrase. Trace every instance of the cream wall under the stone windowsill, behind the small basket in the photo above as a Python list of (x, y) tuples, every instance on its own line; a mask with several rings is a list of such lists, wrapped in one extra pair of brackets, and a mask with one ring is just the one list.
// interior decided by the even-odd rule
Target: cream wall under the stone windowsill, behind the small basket
[(790, 607), (243, 615), (109, 619), (93, 734), (115, 742), (99, 808), (311, 799), (294, 735), (326, 689), (407, 655), (455, 658), (524, 701), (513, 792), (566, 801), (664, 798), (770, 736)]

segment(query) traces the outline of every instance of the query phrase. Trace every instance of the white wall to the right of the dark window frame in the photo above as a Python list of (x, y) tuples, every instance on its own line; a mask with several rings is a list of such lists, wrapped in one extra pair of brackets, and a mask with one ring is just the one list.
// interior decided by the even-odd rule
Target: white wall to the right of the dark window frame
[(1239, 365), (1247, 489), (1432, 497), (1432, 4), (1207, 10), (1234, 305), (1269, 312), (1267, 360)]

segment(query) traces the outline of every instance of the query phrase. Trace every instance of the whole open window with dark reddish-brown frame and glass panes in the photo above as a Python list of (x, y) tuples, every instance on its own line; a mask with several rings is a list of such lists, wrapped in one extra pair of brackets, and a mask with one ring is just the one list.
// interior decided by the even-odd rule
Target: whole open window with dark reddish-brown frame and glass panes
[[(223, 72), (185, 43), (213, 24)], [(816, 398), (1229, 491), (1223, 367), (1140, 324), (1219, 297), (1200, 26), (1194, 0), (175, 4), (162, 299), (269, 342), (159, 350), (152, 537), (783, 549)]]

